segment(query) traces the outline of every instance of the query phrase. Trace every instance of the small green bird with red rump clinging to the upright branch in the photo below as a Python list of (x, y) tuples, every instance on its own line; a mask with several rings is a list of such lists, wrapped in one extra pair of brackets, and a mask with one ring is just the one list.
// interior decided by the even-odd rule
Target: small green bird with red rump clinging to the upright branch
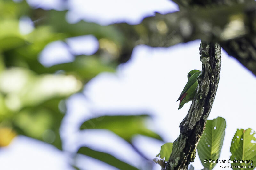
[(179, 99), (177, 100), (180, 100), (180, 105), (178, 109), (181, 109), (185, 103), (193, 100), (196, 93), (196, 87), (198, 85), (197, 77), (200, 73), (201, 71), (199, 70), (192, 70), (188, 73), (188, 82), (185, 85), (183, 91), (181, 92)]

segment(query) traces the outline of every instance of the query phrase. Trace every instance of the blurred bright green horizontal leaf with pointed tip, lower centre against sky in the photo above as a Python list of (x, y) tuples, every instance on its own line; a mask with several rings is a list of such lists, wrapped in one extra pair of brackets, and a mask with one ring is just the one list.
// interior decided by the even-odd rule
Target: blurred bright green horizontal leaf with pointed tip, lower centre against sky
[(145, 126), (148, 115), (101, 116), (85, 121), (80, 129), (107, 129), (131, 143), (132, 137), (140, 134), (158, 140), (162, 138)]

